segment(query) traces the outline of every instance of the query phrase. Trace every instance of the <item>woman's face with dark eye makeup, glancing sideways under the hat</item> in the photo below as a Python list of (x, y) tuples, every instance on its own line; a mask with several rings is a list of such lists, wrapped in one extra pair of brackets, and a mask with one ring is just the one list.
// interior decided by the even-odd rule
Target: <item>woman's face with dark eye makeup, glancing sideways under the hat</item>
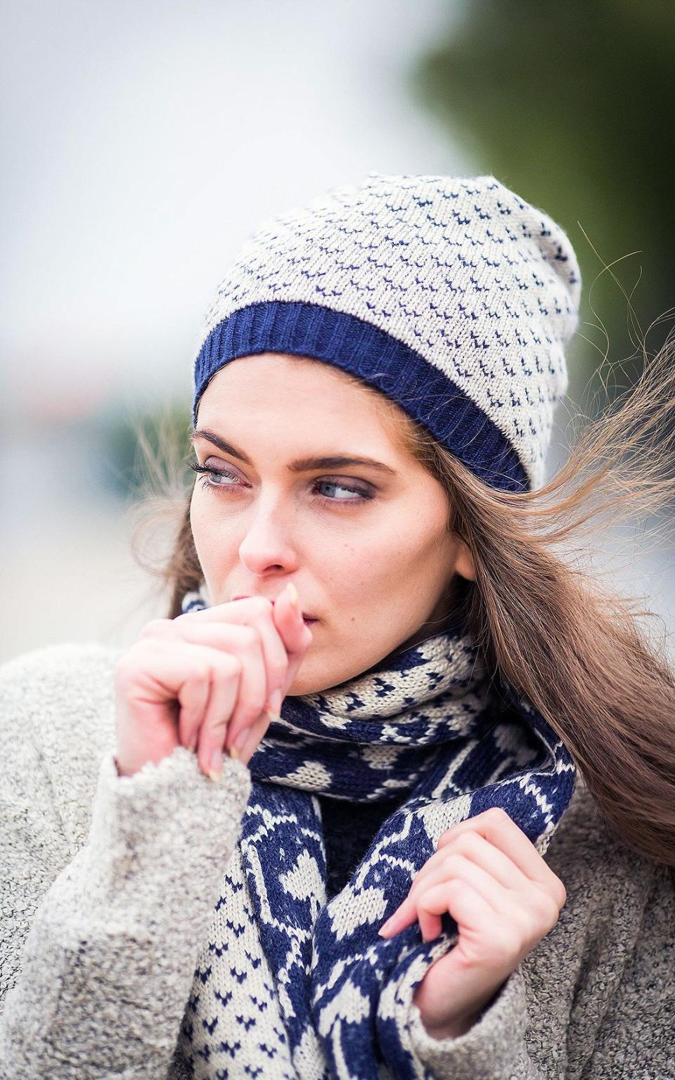
[[(275, 599), (292, 581), (316, 619), (289, 693), (336, 686), (438, 632), (448, 579), (474, 576), (447, 532), (443, 487), (400, 445), (384, 408), (328, 364), (229, 361), (199, 403), (190, 518), (212, 604)], [(219, 448), (214, 440), (229, 444)], [(375, 463), (316, 462), (372, 458)], [(212, 484), (213, 486), (207, 486)]]

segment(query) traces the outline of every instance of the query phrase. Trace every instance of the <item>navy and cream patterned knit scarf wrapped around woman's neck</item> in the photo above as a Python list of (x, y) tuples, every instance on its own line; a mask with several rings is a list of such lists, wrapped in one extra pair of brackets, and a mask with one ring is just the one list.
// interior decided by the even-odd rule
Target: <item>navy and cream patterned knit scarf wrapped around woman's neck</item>
[[(207, 606), (203, 585), (183, 599), (184, 612)], [(255, 1024), (244, 1024), (234, 1050), (225, 1043), (229, 1068), (208, 1075), (255, 1076), (245, 1056), (239, 1066), (234, 1059), (249, 1038), (280, 1078), (377, 1080), (382, 1068), (396, 1080), (423, 1076), (406, 1005), (430, 964), (457, 943), (457, 923), (445, 914), (431, 942), (417, 922), (389, 940), (378, 928), (442, 833), (490, 807), (505, 810), (544, 854), (576, 786), (567, 748), (524, 699), (488, 678), (456, 621), (349, 681), (286, 697), (248, 768), (237, 852), (248, 893), (243, 910), (272, 973), (283, 1030), (266, 1026), (261, 1043)], [(394, 799), (329, 901), (316, 795)], [(261, 962), (252, 948), (246, 957)], [(235, 998), (238, 987), (233, 980)]]

